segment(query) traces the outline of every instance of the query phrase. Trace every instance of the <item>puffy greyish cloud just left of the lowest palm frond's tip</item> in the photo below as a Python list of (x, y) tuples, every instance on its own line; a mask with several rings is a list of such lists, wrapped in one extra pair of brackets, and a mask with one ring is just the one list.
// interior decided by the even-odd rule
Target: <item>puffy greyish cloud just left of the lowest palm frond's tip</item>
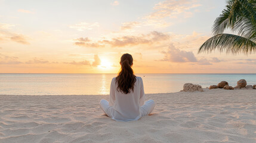
[(174, 63), (198, 62), (193, 52), (182, 51), (175, 48), (172, 44), (169, 46), (168, 51), (163, 51), (162, 54), (165, 54), (165, 57), (161, 61), (171, 61)]

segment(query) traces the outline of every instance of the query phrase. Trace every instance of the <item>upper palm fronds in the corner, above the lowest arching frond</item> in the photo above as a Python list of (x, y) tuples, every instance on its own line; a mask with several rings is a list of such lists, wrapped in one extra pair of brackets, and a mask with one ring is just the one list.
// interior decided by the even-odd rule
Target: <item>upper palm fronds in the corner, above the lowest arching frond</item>
[[(238, 32), (240, 36), (251, 39), (256, 31), (255, 0), (230, 0), (220, 17), (214, 21), (214, 35), (223, 33), (225, 29)], [(255, 37), (255, 36), (254, 36)]]

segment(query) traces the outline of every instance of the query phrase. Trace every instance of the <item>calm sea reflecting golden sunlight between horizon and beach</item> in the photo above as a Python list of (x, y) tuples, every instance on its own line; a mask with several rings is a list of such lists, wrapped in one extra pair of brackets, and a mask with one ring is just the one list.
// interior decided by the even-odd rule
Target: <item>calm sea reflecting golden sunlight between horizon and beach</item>
[[(256, 84), (256, 74), (136, 74), (146, 94), (178, 92), (184, 83), (203, 88), (223, 80), (235, 86), (239, 79)], [(116, 74), (0, 74), (0, 95), (106, 95)]]

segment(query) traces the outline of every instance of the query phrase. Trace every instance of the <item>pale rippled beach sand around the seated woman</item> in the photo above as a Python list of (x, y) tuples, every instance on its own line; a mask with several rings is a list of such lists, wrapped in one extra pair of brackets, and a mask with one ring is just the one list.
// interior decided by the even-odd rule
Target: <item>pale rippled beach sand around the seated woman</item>
[(256, 90), (148, 94), (156, 108), (109, 119), (107, 95), (0, 95), (0, 142), (256, 142)]

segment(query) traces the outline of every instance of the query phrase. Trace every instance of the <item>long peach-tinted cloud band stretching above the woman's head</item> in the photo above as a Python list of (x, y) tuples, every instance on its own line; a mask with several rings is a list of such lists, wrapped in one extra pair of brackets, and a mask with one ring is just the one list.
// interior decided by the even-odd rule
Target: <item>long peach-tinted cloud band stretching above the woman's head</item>
[[(96, 42), (85, 42), (81, 38), (76, 39), (75, 45), (85, 46), (85, 47), (104, 47), (105, 45), (110, 45), (112, 47), (123, 47), (123, 46), (135, 46), (140, 44), (153, 44), (160, 41), (166, 41), (170, 38), (168, 34), (161, 32), (150, 32), (147, 35), (138, 36), (121, 36), (119, 38), (112, 38), (111, 40), (102, 40)], [(85, 38), (88, 39), (88, 38)]]

